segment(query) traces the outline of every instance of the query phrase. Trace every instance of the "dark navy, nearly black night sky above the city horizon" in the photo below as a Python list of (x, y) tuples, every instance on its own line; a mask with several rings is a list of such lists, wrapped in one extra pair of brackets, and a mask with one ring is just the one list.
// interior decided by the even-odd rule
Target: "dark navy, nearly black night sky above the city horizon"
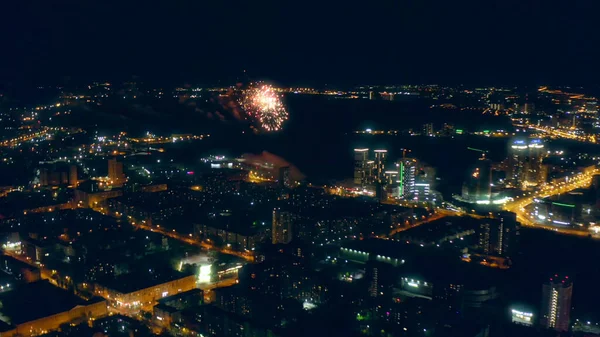
[(596, 0), (11, 1), (1, 81), (589, 84)]

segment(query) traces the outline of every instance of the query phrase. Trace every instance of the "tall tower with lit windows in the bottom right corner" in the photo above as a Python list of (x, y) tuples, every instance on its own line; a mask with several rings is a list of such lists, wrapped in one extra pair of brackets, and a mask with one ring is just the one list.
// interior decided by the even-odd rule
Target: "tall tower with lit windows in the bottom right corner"
[(556, 331), (568, 331), (572, 295), (573, 283), (568, 276), (559, 277), (556, 274), (544, 283), (542, 286), (540, 325)]

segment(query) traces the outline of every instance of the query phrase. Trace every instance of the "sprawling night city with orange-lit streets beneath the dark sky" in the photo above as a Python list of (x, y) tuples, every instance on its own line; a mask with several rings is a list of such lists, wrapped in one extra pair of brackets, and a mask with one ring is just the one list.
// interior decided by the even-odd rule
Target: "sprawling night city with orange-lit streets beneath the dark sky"
[[(6, 92), (0, 106), (11, 333), (44, 334), (83, 310), (55, 308), (50, 320), (15, 304), (40, 291), (106, 331), (127, 320), (215, 337), (265, 326), (294, 336), (294, 321), (312, 335), (464, 335), (479, 319), (498, 331), (591, 329), (570, 317), (594, 317), (595, 271), (577, 256), (600, 238), (597, 96), (136, 81), (39, 90), (54, 96), (19, 104)], [(565, 272), (576, 307), (559, 315), (538, 276)]]

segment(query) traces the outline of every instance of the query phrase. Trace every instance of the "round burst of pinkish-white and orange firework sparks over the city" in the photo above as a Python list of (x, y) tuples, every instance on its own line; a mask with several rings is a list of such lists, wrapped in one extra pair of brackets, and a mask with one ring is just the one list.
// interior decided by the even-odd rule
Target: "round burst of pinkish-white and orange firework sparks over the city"
[(252, 83), (243, 90), (240, 105), (265, 131), (279, 131), (288, 113), (275, 89), (264, 83)]

